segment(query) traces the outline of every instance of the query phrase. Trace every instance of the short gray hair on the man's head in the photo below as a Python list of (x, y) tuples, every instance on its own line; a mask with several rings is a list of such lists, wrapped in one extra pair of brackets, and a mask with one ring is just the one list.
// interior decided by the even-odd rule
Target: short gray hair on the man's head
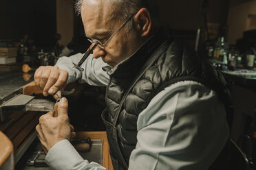
[[(83, 2), (86, 0), (77, 0), (75, 4), (75, 10), (77, 14), (81, 14)], [(120, 16), (120, 20), (125, 21), (129, 16), (134, 15), (140, 10), (140, 8), (147, 8), (151, 14), (151, 20), (154, 26), (159, 25), (158, 20), (158, 5), (156, 0), (103, 0), (109, 1), (116, 8), (117, 16)], [(127, 23), (129, 27), (131, 22)]]

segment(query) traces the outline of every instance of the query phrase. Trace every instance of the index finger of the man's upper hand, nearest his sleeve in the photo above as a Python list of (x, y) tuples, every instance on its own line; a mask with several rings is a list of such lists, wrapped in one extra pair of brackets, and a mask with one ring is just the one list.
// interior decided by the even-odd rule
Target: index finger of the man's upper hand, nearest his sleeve
[(63, 88), (67, 83), (68, 73), (67, 71), (61, 71), (60, 75), (58, 76), (57, 82), (50, 88), (48, 93), (53, 95), (56, 93), (60, 88)]

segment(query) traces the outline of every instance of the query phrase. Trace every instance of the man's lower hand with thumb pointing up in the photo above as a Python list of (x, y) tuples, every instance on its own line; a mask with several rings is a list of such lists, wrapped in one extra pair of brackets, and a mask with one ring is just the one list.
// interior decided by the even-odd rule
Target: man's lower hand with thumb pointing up
[(36, 125), (39, 140), (46, 151), (49, 151), (59, 141), (70, 140), (76, 135), (67, 115), (67, 99), (61, 98), (55, 107), (55, 112), (58, 112), (57, 117), (54, 117), (54, 112), (47, 112), (39, 118), (39, 124)]

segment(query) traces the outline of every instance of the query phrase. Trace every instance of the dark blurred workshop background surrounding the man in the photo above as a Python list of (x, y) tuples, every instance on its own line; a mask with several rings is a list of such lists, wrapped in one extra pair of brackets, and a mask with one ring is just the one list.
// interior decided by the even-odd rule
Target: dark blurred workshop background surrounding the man
[[(231, 138), (255, 169), (256, 0), (158, 0), (158, 5), (160, 22), (169, 33), (210, 60), (226, 78), (234, 102)], [(73, 0), (1, 0), (0, 106), (33, 82), (36, 68), (84, 53), (89, 45)], [(76, 82), (66, 90), (73, 93), (66, 97), (76, 130), (105, 130), (100, 119), (105, 88)]]

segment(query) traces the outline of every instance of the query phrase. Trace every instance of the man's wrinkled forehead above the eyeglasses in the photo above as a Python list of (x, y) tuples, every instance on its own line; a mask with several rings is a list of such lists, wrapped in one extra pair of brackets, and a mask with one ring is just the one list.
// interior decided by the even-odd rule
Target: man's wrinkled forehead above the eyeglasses
[[(103, 32), (111, 29), (117, 20), (114, 7), (104, 0), (86, 0), (83, 2), (81, 17), (85, 27), (85, 34), (93, 34), (96, 29)], [(101, 31), (100, 31), (101, 29)]]

